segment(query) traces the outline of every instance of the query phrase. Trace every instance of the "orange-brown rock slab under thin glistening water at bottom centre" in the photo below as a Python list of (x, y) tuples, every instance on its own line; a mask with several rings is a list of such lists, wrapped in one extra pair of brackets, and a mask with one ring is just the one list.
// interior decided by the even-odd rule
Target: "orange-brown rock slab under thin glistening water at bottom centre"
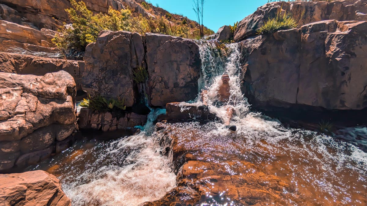
[(156, 127), (163, 154), (172, 158), (177, 187), (144, 205), (286, 204), (284, 191), (293, 189), (249, 162), (236, 136), (213, 136), (216, 143), (210, 145), (210, 140), (203, 140), (210, 128), (185, 123), (157, 123)]

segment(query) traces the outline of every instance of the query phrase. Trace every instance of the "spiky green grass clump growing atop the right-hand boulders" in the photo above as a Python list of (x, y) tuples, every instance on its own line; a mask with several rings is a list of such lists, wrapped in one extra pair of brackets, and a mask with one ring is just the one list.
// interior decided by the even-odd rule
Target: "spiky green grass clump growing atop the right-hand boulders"
[(276, 15), (275, 18), (268, 19), (263, 26), (261, 26), (258, 30), (258, 34), (273, 34), (279, 30), (287, 30), (293, 29), (298, 26), (298, 23), (295, 19), (292, 18), (290, 14), (284, 12), (284, 14), (280, 14), (280, 11)]

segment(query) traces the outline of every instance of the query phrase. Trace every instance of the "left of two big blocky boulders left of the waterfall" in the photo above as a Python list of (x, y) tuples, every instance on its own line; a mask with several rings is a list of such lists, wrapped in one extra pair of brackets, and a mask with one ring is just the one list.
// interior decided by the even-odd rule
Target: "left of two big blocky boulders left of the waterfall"
[(95, 43), (86, 48), (83, 89), (90, 95), (135, 102), (132, 70), (144, 65), (144, 46), (138, 33), (101, 32)]

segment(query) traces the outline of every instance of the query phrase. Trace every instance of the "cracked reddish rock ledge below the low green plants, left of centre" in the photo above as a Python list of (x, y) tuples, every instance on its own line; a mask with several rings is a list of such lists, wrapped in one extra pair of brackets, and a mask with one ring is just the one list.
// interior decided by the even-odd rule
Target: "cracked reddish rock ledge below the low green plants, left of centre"
[(142, 126), (146, 123), (147, 115), (135, 113), (112, 114), (110, 112), (97, 112), (88, 108), (81, 108), (78, 124), (79, 130), (102, 130), (103, 132), (117, 129), (129, 129)]

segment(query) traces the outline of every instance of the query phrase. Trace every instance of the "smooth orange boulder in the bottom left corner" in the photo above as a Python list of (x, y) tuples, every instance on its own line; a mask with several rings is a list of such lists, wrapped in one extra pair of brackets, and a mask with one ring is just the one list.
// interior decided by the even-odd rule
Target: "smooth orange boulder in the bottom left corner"
[(47, 172), (0, 174), (0, 205), (71, 206), (59, 180)]

